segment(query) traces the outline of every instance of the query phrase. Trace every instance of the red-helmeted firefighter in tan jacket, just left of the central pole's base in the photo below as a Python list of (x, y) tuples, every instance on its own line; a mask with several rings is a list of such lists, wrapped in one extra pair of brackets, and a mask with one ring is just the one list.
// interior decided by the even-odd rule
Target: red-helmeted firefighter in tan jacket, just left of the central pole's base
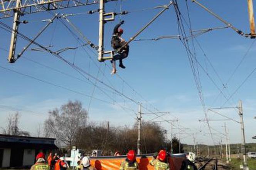
[(121, 163), (120, 170), (138, 170), (139, 165), (136, 161), (136, 153), (134, 150), (129, 150), (127, 158)]

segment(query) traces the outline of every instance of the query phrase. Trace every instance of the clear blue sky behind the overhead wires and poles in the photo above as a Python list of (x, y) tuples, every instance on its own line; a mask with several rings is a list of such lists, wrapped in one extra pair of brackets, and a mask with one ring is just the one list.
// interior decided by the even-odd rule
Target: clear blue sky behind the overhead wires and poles
[[(158, 13), (159, 9), (139, 12), (132, 11), (166, 5), (168, 3), (168, 0), (123, 0), (121, 8), (123, 10), (130, 11), (131, 13), (121, 16), (121, 18), (117, 16), (114, 22), (106, 23), (104, 37), (106, 50), (111, 50), (110, 40), (113, 27), (120, 21), (120, 19), (125, 20), (125, 24), (122, 26), (124, 29), (123, 38), (128, 40), (128, 38), (134, 35), (143, 27), (143, 25), (154, 17)], [(235, 27), (243, 30), (245, 33), (249, 33), (246, 2), (237, 1), (234, 3), (234, 1), (231, 0), (217, 0), (205, 1), (202, 3), (222, 18), (232, 23)], [(188, 1), (188, 5), (193, 30), (225, 26), (222, 22), (205, 12), (202, 8), (198, 7), (195, 3)], [(185, 1), (180, 1), (179, 7), (182, 15), (184, 15), (187, 20)], [(88, 7), (69, 8), (59, 12), (68, 14), (87, 12), (89, 10), (96, 9), (98, 9), (97, 5), (91, 5)], [(111, 11), (120, 12), (120, 1), (117, 3), (106, 3), (106, 12)], [(40, 20), (49, 19), (51, 17), (52, 16), (48, 12), (25, 15), (21, 17), (21, 20), (28, 20), (31, 23), (26, 25), (21, 24), (19, 32), (32, 38), (46, 24)], [(69, 19), (89, 40), (91, 40), (91, 42), (94, 44), (98, 43), (98, 13), (94, 13), (92, 15), (84, 14), (71, 16)], [(3, 19), (2, 22), (11, 26), (12, 18)], [(189, 28), (186, 27), (186, 30), (189, 31)], [(150, 25), (150, 27), (142, 32), (138, 38), (157, 38), (162, 35), (178, 34), (176, 14), (173, 7), (170, 7), (169, 10), (164, 12), (152, 25)], [(0, 37), (0, 47), (8, 50), (10, 33), (1, 30)], [(253, 39), (242, 37), (231, 28), (205, 33), (197, 37), (197, 40), (224, 83), (227, 83), (231, 73), (241, 61), (249, 46), (253, 43)], [(66, 47), (79, 46), (77, 40), (62, 25), (62, 23), (59, 22), (59, 20), (54, 21), (50, 27), (42, 33), (37, 42), (40, 42), (40, 44), (45, 46), (49, 44), (54, 45), (50, 48), (53, 51)], [(27, 43), (28, 42), (25, 40), (19, 38), (17, 41), (16, 54), (18, 54)], [(246, 55), (240, 67), (226, 85), (229, 91), (227, 92), (225, 90), (223, 92), (226, 96), (229, 96), (229, 93), (233, 93), (255, 68), (255, 45), (256, 44), (252, 46), (248, 55)], [(36, 46), (32, 45), (30, 48), (36, 48)], [(42, 126), (45, 118), (48, 116), (47, 112), (56, 107), (60, 107), (68, 100), (80, 100), (83, 103), (84, 108), (89, 110), (89, 121), (102, 122), (108, 120), (112, 126), (131, 126), (135, 122), (134, 118), (136, 116), (131, 110), (137, 111), (138, 105), (126, 98), (120, 97), (113, 92), (113, 90), (99, 82), (97, 82), (97, 85), (101, 87), (101, 89), (104, 88), (104, 93), (99, 90), (99, 88), (94, 89), (94, 86), (88, 82), (88, 80), (84, 79), (84, 77), (79, 75), (74, 71), (74, 69), (58, 60), (53, 55), (46, 52), (26, 51), (24, 55), (17, 60), (17, 62), (10, 64), (7, 62), (8, 52), (5, 50), (0, 49), (0, 66), (2, 67), (45, 80), (86, 95), (93, 95), (93, 97), (100, 98), (102, 100), (110, 102), (113, 102), (111, 100), (115, 100), (116, 105), (110, 105), (93, 99), (89, 106), (90, 98), (85, 97), (84, 95), (79, 95), (59, 87), (54, 87), (47, 83), (39, 82), (0, 68), (1, 127), (5, 127), (5, 120), (9, 113), (19, 110), (22, 116), (20, 120), (21, 127), (24, 130), (30, 131), (33, 135), (36, 135), (39, 124)], [(197, 44), (195, 44), (195, 52), (199, 63), (204, 67), (207, 73), (209, 73), (209, 76), (216, 85), (219, 88), (222, 88), (222, 83), (219, 81), (219, 78), (215, 74), (210, 63), (207, 62)], [(205, 137), (203, 136), (203, 133), (199, 133), (199, 130), (205, 133), (209, 132), (207, 125), (205, 123), (199, 123), (198, 121), (198, 119), (204, 118), (204, 112), (199, 100), (188, 57), (179, 40), (162, 39), (158, 41), (132, 42), (130, 44), (129, 57), (124, 60), (126, 69), (123, 70), (118, 68), (118, 75), (122, 79), (117, 75), (110, 75), (111, 70), (108, 67), (110, 66), (109, 62), (105, 62), (108, 66), (106, 66), (105, 63), (99, 63), (97, 61), (97, 56), (91, 52), (89, 47), (79, 47), (77, 50), (68, 50), (60, 55), (66, 60), (74, 62), (74, 64), (83, 68), (83, 70), (94, 77), (98, 77), (99, 80), (102, 80), (108, 85), (111, 83), (111, 86), (134, 100), (141, 102), (144, 107), (156, 111), (150, 105), (152, 104), (160, 111), (169, 111), (170, 115), (167, 115), (164, 118), (159, 118), (158, 120), (168, 120), (177, 117), (179, 118), (180, 125), (191, 128), (188, 133), (197, 133), (199, 143), (212, 144), (210, 137)], [(47, 67), (61, 70), (62, 72), (68, 73), (76, 78), (80, 78), (83, 81), (43, 67), (35, 62), (31, 62), (31, 60), (47, 65)], [(199, 68), (199, 74), (206, 108), (222, 106), (226, 99), (223, 96), (220, 96), (217, 98), (216, 102), (212, 104), (214, 99), (218, 96), (219, 90), (201, 68)], [(95, 83), (95, 80), (90, 80)], [(125, 82), (123, 80), (125, 80)], [(232, 100), (230, 100), (231, 103), (227, 103), (225, 105), (235, 106), (238, 104), (239, 99), (243, 100), (244, 120), (246, 123), (246, 140), (248, 142), (254, 142), (251, 137), (256, 135), (253, 130), (253, 124), (255, 124), (256, 121), (253, 120), (253, 117), (256, 116), (255, 82), (256, 76), (254, 73), (249, 77), (244, 85), (239, 88), (237, 93), (233, 95)], [(129, 86), (126, 83), (128, 83)], [(148, 102), (145, 102), (145, 100), (134, 90)], [(108, 96), (105, 95), (105, 93), (107, 93)], [(131, 110), (123, 110), (120, 106), (127, 107)], [(143, 112), (148, 111), (144, 109)], [(236, 118), (237, 120), (239, 119), (235, 110), (221, 110), (220, 112), (232, 118)], [(209, 113), (209, 117), (216, 119), (221, 118), (213, 113)], [(145, 121), (150, 120), (151, 118), (154, 118), (154, 116), (143, 115), (143, 120)], [(170, 130), (170, 124), (161, 123), (161, 125), (167, 130)], [(210, 122), (210, 125), (213, 128), (224, 132), (223, 127), (221, 127), (223, 122)], [(239, 124), (227, 121), (227, 126), (230, 132), (231, 143), (241, 142)], [(218, 137), (214, 138), (216, 138), (216, 141), (220, 140)], [(192, 138), (185, 138), (182, 142), (192, 143)]]

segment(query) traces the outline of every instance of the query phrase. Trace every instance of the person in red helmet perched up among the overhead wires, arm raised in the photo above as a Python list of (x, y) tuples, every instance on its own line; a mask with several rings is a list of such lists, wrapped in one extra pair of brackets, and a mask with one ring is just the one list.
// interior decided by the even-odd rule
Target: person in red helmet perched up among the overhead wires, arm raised
[(118, 23), (113, 30), (111, 46), (117, 54), (114, 55), (113, 59), (111, 60), (112, 67), (113, 67), (111, 74), (116, 73), (116, 60), (119, 60), (119, 67), (125, 68), (125, 66), (123, 65), (123, 59), (128, 57), (128, 53), (129, 53), (129, 45), (126, 45), (125, 47), (123, 47), (123, 45), (125, 45), (126, 43), (125, 40), (121, 37), (121, 35), (123, 34), (123, 29), (120, 28), (120, 26), (123, 23), (125, 23), (124, 20)]

